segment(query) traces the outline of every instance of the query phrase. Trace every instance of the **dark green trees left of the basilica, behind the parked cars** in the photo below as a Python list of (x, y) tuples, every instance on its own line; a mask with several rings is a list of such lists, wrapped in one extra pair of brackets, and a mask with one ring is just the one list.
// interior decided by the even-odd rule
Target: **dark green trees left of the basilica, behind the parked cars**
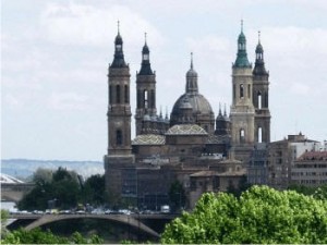
[(34, 183), (35, 187), (17, 205), (21, 210), (71, 209), (78, 203), (104, 204), (105, 177), (100, 175), (90, 176), (82, 186), (74, 171), (38, 169)]

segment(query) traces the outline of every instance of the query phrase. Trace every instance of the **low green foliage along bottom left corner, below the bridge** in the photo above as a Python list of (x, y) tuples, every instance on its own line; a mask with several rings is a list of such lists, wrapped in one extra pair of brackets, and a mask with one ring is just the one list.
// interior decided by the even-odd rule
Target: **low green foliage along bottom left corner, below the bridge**
[(52, 234), (50, 231), (41, 231), (39, 228), (32, 231), (19, 229), (10, 232), (1, 244), (102, 244), (104, 241), (97, 235), (93, 235), (89, 240), (83, 237), (78, 232), (72, 234), (71, 237), (61, 237)]

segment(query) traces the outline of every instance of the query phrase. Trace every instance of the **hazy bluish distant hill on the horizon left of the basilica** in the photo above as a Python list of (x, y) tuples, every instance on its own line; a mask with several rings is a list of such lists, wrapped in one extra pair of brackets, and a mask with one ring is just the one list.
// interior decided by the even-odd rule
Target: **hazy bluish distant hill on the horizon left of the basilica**
[(101, 161), (62, 161), (62, 160), (32, 160), (32, 159), (3, 159), (1, 160), (1, 173), (17, 179), (31, 176), (38, 168), (57, 170), (59, 167), (74, 170), (77, 174), (88, 177), (93, 174), (104, 174)]

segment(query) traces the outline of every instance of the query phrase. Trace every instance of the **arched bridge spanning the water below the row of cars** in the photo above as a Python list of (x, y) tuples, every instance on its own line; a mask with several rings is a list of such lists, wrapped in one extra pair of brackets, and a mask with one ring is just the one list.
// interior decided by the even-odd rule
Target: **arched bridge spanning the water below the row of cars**
[[(82, 215), (32, 215), (32, 213), (20, 213), (10, 215), (10, 219), (15, 220), (31, 220), (32, 222), (25, 226), (26, 230), (32, 230), (44, 224), (57, 222), (60, 220), (71, 220), (71, 219), (102, 219), (111, 222), (117, 222), (125, 224), (130, 228), (137, 229), (137, 232), (144, 232), (145, 234), (158, 238), (160, 235), (149, 225), (146, 225), (147, 221), (161, 220), (168, 223), (172, 219), (177, 218), (175, 213), (155, 213), (155, 215), (93, 215), (93, 213), (82, 213)], [(148, 222), (147, 222), (148, 223)]]

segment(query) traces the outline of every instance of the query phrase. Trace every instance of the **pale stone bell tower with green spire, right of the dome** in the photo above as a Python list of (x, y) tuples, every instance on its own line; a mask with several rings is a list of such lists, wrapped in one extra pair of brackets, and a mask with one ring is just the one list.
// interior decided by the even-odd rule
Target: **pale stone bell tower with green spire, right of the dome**
[(246, 160), (254, 144), (253, 75), (252, 64), (247, 60), (246, 38), (241, 34), (238, 39), (237, 60), (232, 65), (232, 151), (238, 160)]

